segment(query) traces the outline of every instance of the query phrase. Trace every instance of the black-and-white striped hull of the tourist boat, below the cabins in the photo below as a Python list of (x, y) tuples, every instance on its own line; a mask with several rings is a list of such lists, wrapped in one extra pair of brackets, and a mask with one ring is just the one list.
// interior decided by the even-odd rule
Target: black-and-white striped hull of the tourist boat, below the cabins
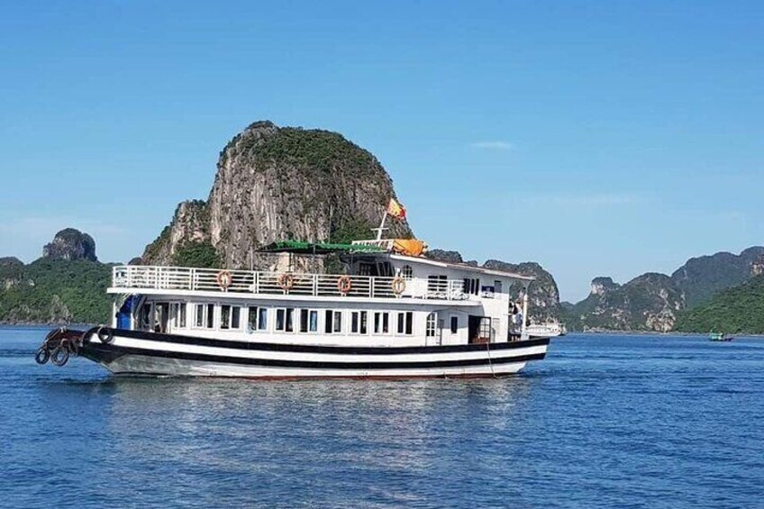
[(549, 338), (429, 347), (332, 347), (111, 330), (80, 355), (114, 375), (248, 378), (503, 377), (543, 359)]

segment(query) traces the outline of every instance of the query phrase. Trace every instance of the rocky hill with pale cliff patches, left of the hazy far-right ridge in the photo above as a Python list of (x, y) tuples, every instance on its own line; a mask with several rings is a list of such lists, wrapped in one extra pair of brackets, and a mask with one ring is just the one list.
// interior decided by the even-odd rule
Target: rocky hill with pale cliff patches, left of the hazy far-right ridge
[(669, 332), (685, 307), (681, 290), (665, 274), (648, 273), (618, 285), (596, 277), (589, 296), (568, 309), (578, 330)]

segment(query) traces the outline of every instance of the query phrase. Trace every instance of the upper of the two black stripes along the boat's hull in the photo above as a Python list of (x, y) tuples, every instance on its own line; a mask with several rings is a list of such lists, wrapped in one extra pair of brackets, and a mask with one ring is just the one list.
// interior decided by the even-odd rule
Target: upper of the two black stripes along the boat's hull
[[(341, 347), (326, 345), (296, 345), (283, 343), (258, 342), (257, 334), (252, 334), (253, 341), (229, 341), (213, 340), (209, 338), (196, 338), (193, 336), (181, 336), (179, 334), (161, 334), (159, 332), (126, 331), (113, 329), (114, 337), (130, 338), (134, 340), (162, 341), (184, 345), (202, 347), (227, 348), (233, 350), (262, 350), (262, 351), (289, 351), (295, 353), (332, 353), (340, 355), (395, 355), (415, 353), (459, 353), (468, 351), (484, 351), (486, 343), (468, 345), (446, 345), (429, 347)], [(98, 341), (95, 337), (92, 341)], [(508, 341), (505, 343), (490, 343), (491, 351), (510, 350), (548, 345), (549, 338), (535, 338), (526, 341)]]

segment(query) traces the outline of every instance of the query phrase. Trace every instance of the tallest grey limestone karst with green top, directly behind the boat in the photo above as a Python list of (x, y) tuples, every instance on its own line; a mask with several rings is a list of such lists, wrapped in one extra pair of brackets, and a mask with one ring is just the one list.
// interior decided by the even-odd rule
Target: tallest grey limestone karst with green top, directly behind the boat
[[(207, 201), (178, 205), (142, 259), (164, 265), (181, 246), (209, 243), (226, 267), (249, 267), (250, 250), (273, 241), (370, 238), (391, 197), (379, 161), (340, 134), (252, 123), (221, 151)], [(405, 220), (387, 226), (412, 237)]]

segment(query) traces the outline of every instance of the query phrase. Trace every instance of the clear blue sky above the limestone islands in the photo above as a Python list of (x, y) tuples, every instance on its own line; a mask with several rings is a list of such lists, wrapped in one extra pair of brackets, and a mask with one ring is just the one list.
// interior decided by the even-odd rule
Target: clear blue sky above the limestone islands
[(140, 255), (248, 124), (341, 132), (416, 235), (563, 300), (764, 243), (764, 2), (5, 2), (0, 256)]

